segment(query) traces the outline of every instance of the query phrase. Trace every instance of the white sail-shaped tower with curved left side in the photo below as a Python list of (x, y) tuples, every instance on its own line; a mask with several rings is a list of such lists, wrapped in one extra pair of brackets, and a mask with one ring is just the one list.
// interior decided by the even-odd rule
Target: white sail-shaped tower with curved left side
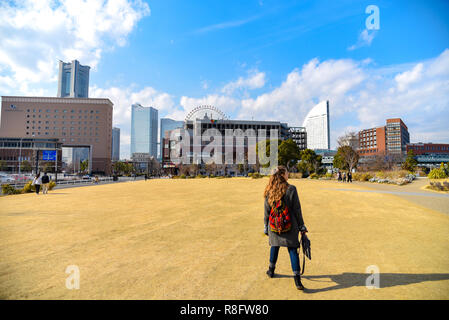
[(308, 149), (330, 149), (329, 101), (313, 107), (302, 126), (306, 128)]

